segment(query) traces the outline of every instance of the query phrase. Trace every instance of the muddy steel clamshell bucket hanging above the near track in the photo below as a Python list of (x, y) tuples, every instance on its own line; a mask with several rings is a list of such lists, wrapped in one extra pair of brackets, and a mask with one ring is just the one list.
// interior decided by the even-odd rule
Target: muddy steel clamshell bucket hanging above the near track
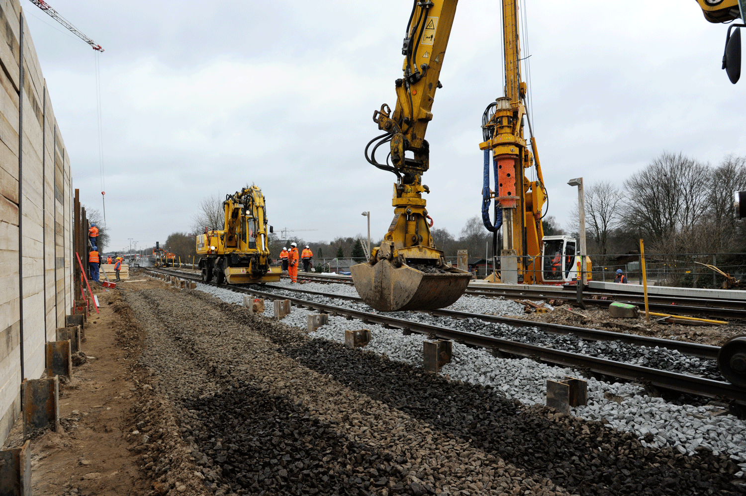
[(407, 265), (395, 267), (389, 260), (358, 263), (350, 271), (360, 298), (380, 312), (448, 307), (471, 280), (471, 274), (455, 267), (421, 271)]

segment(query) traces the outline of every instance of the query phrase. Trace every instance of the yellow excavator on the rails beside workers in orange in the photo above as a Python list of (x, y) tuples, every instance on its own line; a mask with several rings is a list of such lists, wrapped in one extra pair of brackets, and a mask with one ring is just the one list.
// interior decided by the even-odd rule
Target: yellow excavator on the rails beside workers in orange
[(244, 188), (223, 201), (222, 230), (197, 236), (197, 254), (202, 280), (216, 283), (275, 283), (281, 268), (270, 267), (269, 233), (264, 195), (258, 186)]

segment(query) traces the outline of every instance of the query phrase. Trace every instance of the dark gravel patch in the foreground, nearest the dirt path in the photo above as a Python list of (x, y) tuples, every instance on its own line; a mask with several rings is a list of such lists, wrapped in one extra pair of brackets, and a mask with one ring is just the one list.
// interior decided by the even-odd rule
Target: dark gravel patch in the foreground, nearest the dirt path
[[(389, 481), (402, 494), (434, 491), (429, 485), (407, 483), (407, 474), (391, 463), (392, 453), (348, 442), (300, 403), (243, 383), (213, 397), (186, 401), (201, 422), (194, 433), (201, 451), (197, 456), (213, 459), (222, 480), (238, 495), (370, 495)], [(406, 459), (400, 456), (397, 462)], [(215, 478), (214, 471), (208, 472), (208, 487)]]

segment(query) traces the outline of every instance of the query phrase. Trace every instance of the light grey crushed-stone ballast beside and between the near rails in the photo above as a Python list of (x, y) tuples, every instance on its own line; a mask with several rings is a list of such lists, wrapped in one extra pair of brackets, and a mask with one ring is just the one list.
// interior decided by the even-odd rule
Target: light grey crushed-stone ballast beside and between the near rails
[[(319, 284), (319, 286), (326, 285)], [(349, 287), (341, 284), (337, 286)], [(242, 301), (241, 293), (231, 292), (228, 289), (207, 285), (201, 285), (199, 289), (231, 303), (239, 303), (239, 298)], [(332, 301), (331, 304), (342, 305), (339, 300)], [(351, 304), (345, 302), (346, 305)], [(313, 315), (313, 313), (309, 310), (293, 307), (292, 313), (283, 318), (283, 323), (305, 328), (307, 316)], [(392, 313), (392, 315), (395, 314), (397, 313)], [(409, 318), (408, 314), (410, 313), (401, 314), (402, 318)], [(265, 315), (272, 315), (269, 306)], [(438, 318), (433, 318), (427, 314), (418, 313), (415, 315), (427, 323), (438, 321)], [(456, 327), (458, 324), (468, 325), (469, 323), (452, 321), (451, 324), (449, 327)], [(471, 324), (475, 327), (486, 327), (483, 325), (486, 324), (485, 322), (476, 321), (476, 319)], [(345, 330), (361, 328), (369, 329), (372, 333), (372, 340), (366, 346), (367, 351), (382, 354), (391, 360), (398, 360), (416, 367), (422, 365), (422, 341), (426, 339), (425, 336), (417, 334), (403, 336), (401, 331), (398, 330), (385, 329), (377, 324), (348, 321), (346, 318), (338, 316), (329, 316), (329, 324), (319, 327), (319, 330), (312, 336), (344, 343)], [(511, 329), (516, 331), (526, 330), (525, 328)], [(539, 333), (553, 338), (568, 337), (549, 335), (537, 330), (536, 335), (538, 336)], [(535, 340), (537, 336), (534, 336)], [(535, 340), (532, 342), (536, 342)], [(608, 343), (598, 344), (609, 346)], [(618, 343), (615, 344), (618, 345)], [(562, 380), (565, 376), (575, 374), (571, 369), (554, 367), (533, 360), (492, 357), (485, 350), (468, 348), (455, 342), (453, 346), (454, 359), (441, 369), (441, 374), (450, 377), (451, 380), (463, 380), (480, 386), (489, 386), (506, 398), (515, 399), (520, 401), (521, 404), (545, 404), (546, 380)], [(655, 348), (647, 348), (646, 351), (643, 351), (643, 354), (652, 350), (655, 350)], [(660, 351), (660, 349), (657, 351)], [(662, 351), (670, 353), (671, 357), (676, 357), (679, 354), (677, 351)], [(609, 355), (606, 355), (606, 357), (611, 358)], [(611, 359), (617, 360), (615, 358)], [(686, 357), (686, 359), (690, 359), (690, 357)], [(673, 358), (670, 360), (674, 362)], [(696, 362), (696, 360), (691, 359), (692, 362)], [(621, 361), (624, 361), (624, 358), (621, 358)], [(709, 360), (700, 360), (700, 362), (709, 362)], [(645, 362), (642, 362), (642, 364), (646, 365)], [(744, 471), (746, 471), (746, 423), (733, 415), (727, 414), (727, 410), (720, 406), (671, 404), (662, 398), (645, 394), (642, 386), (634, 383), (607, 383), (589, 378), (588, 405), (571, 409), (571, 414), (587, 421), (601, 421), (618, 430), (633, 433), (646, 448), (671, 448), (677, 453), (688, 456), (694, 455), (698, 448), (712, 450), (715, 455), (724, 453), (736, 464), (734, 465), (736, 467), (735, 477), (743, 477)]]

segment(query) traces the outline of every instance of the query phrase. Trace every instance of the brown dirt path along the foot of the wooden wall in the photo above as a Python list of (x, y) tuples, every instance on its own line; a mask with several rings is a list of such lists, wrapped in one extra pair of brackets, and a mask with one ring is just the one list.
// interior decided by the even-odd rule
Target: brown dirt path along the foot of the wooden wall
[[(134, 417), (142, 396), (134, 380), (140, 336), (122, 322), (119, 291), (154, 286), (151, 282), (119, 283), (122, 289), (93, 289), (101, 313), (92, 314), (81, 345), (87, 361), (75, 367), (71, 383), (60, 383), (60, 432), (31, 440), (34, 495), (138, 495), (152, 489), (143, 479), (138, 453), (130, 451)], [(158, 285), (163, 287), (163, 285)], [(23, 442), (21, 421), (4, 448)]]

